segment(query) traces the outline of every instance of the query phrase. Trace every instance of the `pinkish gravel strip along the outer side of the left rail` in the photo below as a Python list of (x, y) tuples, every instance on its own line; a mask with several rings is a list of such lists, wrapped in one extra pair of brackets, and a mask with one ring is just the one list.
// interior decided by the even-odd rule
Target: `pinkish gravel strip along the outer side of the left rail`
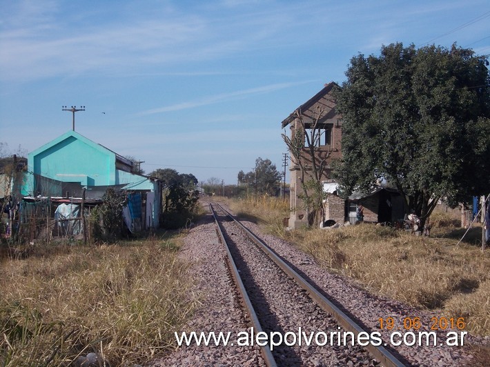
[[(235, 284), (226, 268), (226, 252), (219, 244), (212, 217), (199, 222), (186, 237), (180, 256), (191, 261), (196, 279), (194, 297), (202, 306), (182, 331), (231, 332), (247, 330)], [(258, 346), (182, 346), (154, 366), (265, 366)]]

